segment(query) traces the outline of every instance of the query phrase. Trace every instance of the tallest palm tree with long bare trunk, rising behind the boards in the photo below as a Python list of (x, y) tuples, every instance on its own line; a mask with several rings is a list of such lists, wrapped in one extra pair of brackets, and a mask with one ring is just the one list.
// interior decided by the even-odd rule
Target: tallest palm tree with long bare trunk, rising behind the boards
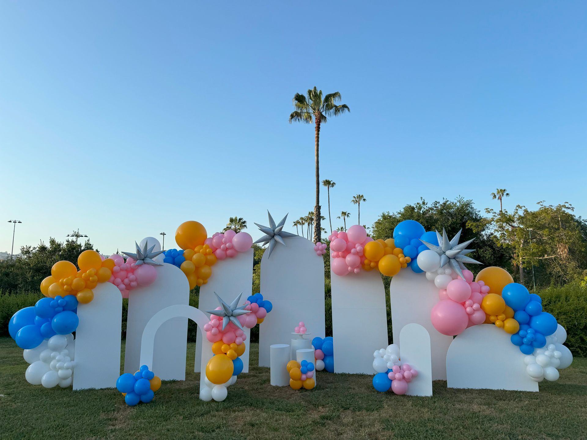
[(301, 93), (294, 95), (295, 111), (289, 115), (289, 123), (293, 121), (303, 122), (306, 124), (314, 123), (315, 137), (314, 137), (314, 157), (316, 168), (316, 205), (314, 207), (314, 242), (320, 241), (320, 126), (328, 121), (327, 117), (339, 116), (339, 114), (350, 111), (346, 104), (336, 103), (340, 101), (340, 93), (328, 93), (322, 98), (322, 90), (308, 89), (308, 96), (303, 96)]

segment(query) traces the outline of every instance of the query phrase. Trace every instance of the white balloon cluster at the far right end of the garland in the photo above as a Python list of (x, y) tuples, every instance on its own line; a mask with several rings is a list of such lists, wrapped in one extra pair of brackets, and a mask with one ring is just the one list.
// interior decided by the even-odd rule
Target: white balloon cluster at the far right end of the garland
[(546, 337), (546, 347), (535, 348), (534, 353), (524, 358), (526, 372), (532, 380), (537, 382), (544, 379), (558, 380), (558, 370), (563, 370), (571, 365), (573, 355), (571, 350), (562, 345), (565, 340), (566, 330), (561, 324), (558, 324), (554, 334)]

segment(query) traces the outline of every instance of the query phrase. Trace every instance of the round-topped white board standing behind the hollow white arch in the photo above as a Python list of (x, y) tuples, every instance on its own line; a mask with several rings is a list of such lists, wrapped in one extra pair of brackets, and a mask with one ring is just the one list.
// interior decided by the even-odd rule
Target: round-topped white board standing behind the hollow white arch
[[(190, 301), (190, 285), (179, 268), (168, 263), (154, 267), (157, 279), (153, 284), (136, 287), (129, 294), (124, 373), (139, 370), (141, 337), (151, 317), (166, 307), (187, 306)], [(181, 316), (167, 320), (157, 330), (154, 364), (149, 368), (156, 371), (161, 380), (185, 380), (186, 350), (187, 318)]]

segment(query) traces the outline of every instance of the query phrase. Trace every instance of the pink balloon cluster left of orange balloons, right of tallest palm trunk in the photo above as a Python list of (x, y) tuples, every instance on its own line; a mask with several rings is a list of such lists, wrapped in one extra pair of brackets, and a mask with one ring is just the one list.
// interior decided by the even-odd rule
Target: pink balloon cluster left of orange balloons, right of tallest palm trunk
[(373, 241), (371, 237), (367, 237), (365, 228), (353, 225), (347, 232), (332, 231), (328, 239), (330, 240), (332, 272), (339, 276), (349, 272), (359, 273), (365, 262), (363, 246)]

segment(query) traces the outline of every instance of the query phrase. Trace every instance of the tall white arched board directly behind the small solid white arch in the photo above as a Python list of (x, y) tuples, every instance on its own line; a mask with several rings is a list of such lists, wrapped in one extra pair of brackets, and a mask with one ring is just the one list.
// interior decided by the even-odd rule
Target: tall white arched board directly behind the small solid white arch
[(392, 278), (389, 299), (393, 341), (399, 341), (400, 331), (407, 324), (423, 326), (430, 335), (432, 380), (446, 380), (446, 352), (453, 337), (438, 333), (430, 321), (430, 310), (438, 302), (438, 287), (427, 280), (424, 273), (406, 268)]

